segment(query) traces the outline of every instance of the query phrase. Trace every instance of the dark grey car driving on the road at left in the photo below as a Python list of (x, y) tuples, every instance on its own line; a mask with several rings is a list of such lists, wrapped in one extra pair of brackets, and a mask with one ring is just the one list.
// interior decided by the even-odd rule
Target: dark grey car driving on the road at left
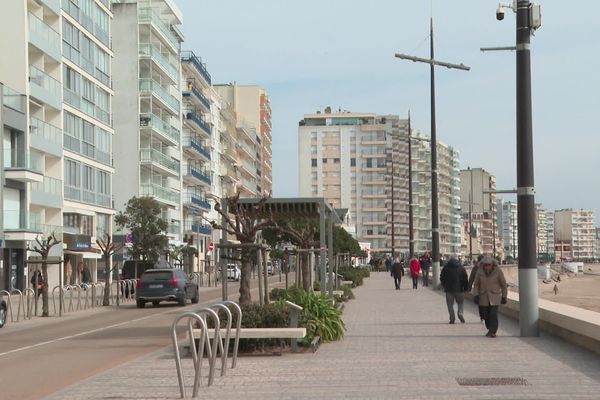
[(188, 299), (194, 304), (200, 301), (198, 285), (180, 269), (147, 269), (136, 289), (138, 308), (144, 308), (147, 302), (156, 307), (161, 301), (176, 301), (180, 306), (185, 306)]

